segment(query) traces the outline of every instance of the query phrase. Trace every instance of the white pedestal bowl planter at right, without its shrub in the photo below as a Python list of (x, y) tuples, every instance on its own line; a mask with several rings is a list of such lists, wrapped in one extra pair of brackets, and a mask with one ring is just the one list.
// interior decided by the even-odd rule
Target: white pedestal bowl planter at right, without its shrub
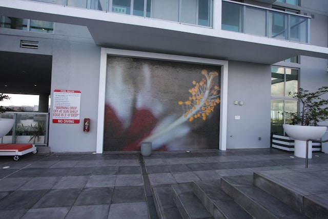
[[(284, 131), (295, 140), (294, 155), (297, 157), (306, 157), (306, 140), (319, 140), (326, 132), (325, 126), (299, 126), (283, 124)], [(312, 141), (309, 142), (308, 158), (312, 158)]]

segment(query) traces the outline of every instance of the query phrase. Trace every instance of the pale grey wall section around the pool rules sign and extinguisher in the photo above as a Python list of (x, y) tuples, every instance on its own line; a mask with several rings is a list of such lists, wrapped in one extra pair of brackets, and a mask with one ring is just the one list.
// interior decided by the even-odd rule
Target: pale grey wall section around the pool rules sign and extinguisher
[[(56, 24), (51, 95), (54, 89), (79, 90), (81, 99), (79, 124), (54, 124), (50, 113), (52, 152), (96, 151), (99, 66), (100, 47), (94, 44), (86, 27)], [(84, 118), (91, 120), (90, 132), (83, 132)]]

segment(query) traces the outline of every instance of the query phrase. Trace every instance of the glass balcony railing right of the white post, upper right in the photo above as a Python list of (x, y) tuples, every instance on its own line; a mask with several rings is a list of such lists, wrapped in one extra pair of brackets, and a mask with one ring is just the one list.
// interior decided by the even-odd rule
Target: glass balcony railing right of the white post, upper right
[(274, 9), (222, 1), (222, 30), (310, 42), (310, 18)]

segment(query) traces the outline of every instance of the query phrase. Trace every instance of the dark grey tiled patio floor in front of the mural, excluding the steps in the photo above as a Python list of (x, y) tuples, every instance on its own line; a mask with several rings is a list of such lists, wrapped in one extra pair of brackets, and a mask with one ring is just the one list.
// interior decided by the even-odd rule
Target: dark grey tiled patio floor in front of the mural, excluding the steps
[[(328, 169), (328, 154), (313, 153), (314, 167)], [(272, 148), (2, 156), (0, 218), (157, 218), (151, 187), (299, 168), (304, 158)]]

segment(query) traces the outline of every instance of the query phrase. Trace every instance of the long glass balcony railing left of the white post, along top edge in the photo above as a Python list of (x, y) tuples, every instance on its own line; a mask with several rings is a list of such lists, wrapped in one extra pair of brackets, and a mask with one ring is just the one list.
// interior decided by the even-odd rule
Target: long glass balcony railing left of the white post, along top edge
[(213, 0), (30, 0), (212, 27)]

